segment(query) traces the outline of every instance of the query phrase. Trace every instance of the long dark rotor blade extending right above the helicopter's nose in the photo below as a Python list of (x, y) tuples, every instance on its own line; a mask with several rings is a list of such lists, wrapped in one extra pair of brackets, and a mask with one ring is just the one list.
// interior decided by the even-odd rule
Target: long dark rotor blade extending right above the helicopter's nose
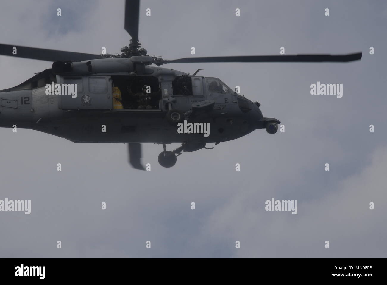
[(191, 62), (348, 62), (360, 60), (361, 52), (356, 54), (297, 54), (297, 55), (242, 55), (215, 57), (185, 57), (164, 60), (163, 63)]

